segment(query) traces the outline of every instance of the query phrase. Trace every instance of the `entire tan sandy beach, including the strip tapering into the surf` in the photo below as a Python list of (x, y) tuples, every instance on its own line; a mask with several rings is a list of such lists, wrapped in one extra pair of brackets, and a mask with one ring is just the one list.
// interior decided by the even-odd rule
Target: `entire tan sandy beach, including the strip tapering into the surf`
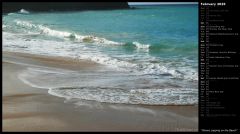
[(3, 131), (197, 131), (198, 106), (147, 106), (89, 102), (75, 105), (23, 83), (29, 66), (91, 70), (90, 61), (3, 52)]

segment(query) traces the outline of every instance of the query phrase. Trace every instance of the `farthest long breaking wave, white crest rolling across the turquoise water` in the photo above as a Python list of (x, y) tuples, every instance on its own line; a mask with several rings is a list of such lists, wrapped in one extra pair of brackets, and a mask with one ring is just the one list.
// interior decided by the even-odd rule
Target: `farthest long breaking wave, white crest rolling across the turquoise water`
[[(24, 9), (22, 9), (22, 12), (25, 12)], [(14, 20), (16, 26), (24, 28), (25, 30), (30, 30), (30, 32), (37, 32), (40, 35), (47, 35), (52, 36), (56, 38), (61, 38), (69, 41), (79, 42), (79, 43), (91, 43), (96, 45), (115, 45), (115, 46), (125, 46), (130, 47), (132, 49), (137, 50), (146, 50), (151, 52), (159, 52), (159, 51), (184, 51), (184, 52), (191, 52), (192, 50), (197, 49), (197, 45), (195, 47), (189, 47), (192, 45), (180, 45), (179, 47), (173, 47), (171, 45), (165, 45), (165, 44), (143, 44), (137, 41), (133, 42), (116, 42), (111, 41), (105, 38), (97, 37), (94, 35), (79, 35), (74, 32), (68, 32), (68, 31), (61, 31), (61, 30), (54, 30), (47, 26), (41, 25), (41, 24), (33, 24), (30, 21), (22, 21), (22, 20)], [(6, 28), (7, 25), (3, 25), (3, 28)]]

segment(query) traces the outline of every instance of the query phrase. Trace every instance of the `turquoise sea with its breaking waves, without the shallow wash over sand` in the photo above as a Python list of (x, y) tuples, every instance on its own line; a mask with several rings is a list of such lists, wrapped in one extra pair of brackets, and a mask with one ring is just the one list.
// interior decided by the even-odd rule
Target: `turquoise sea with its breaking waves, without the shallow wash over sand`
[[(144, 78), (155, 85), (168, 81), (197, 90), (197, 5), (48, 13), (22, 10), (3, 15), (2, 28), (3, 51), (87, 59), (128, 72), (135, 76), (133, 81)], [(194, 97), (197, 100), (197, 94)]]

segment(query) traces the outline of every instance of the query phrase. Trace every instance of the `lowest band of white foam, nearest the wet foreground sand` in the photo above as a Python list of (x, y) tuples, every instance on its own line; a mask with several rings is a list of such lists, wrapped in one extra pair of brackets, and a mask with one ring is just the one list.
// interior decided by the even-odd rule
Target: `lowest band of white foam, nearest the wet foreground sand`
[(64, 98), (120, 104), (194, 105), (198, 102), (198, 90), (187, 88), (129, 90), (112, 87), (60, 87), (52, 88), (48, 93)]

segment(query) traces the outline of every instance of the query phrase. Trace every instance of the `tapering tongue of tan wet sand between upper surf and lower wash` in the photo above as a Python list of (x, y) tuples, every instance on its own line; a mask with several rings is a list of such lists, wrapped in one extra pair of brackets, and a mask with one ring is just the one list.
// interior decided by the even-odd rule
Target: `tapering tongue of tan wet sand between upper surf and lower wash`
[(9, 51), (3, 51), (2, 53), (3, 61), (8, 61), (15, 64), (19, 63), (21, 65), (25, 64), (26, 66), (36, 65), (44, 67), (47, 65), (46, 67), (68, 70), (96, 69), (97, 67), (99, 68), (101, 66), (93, 61), (66, 57), (35, 55)]

